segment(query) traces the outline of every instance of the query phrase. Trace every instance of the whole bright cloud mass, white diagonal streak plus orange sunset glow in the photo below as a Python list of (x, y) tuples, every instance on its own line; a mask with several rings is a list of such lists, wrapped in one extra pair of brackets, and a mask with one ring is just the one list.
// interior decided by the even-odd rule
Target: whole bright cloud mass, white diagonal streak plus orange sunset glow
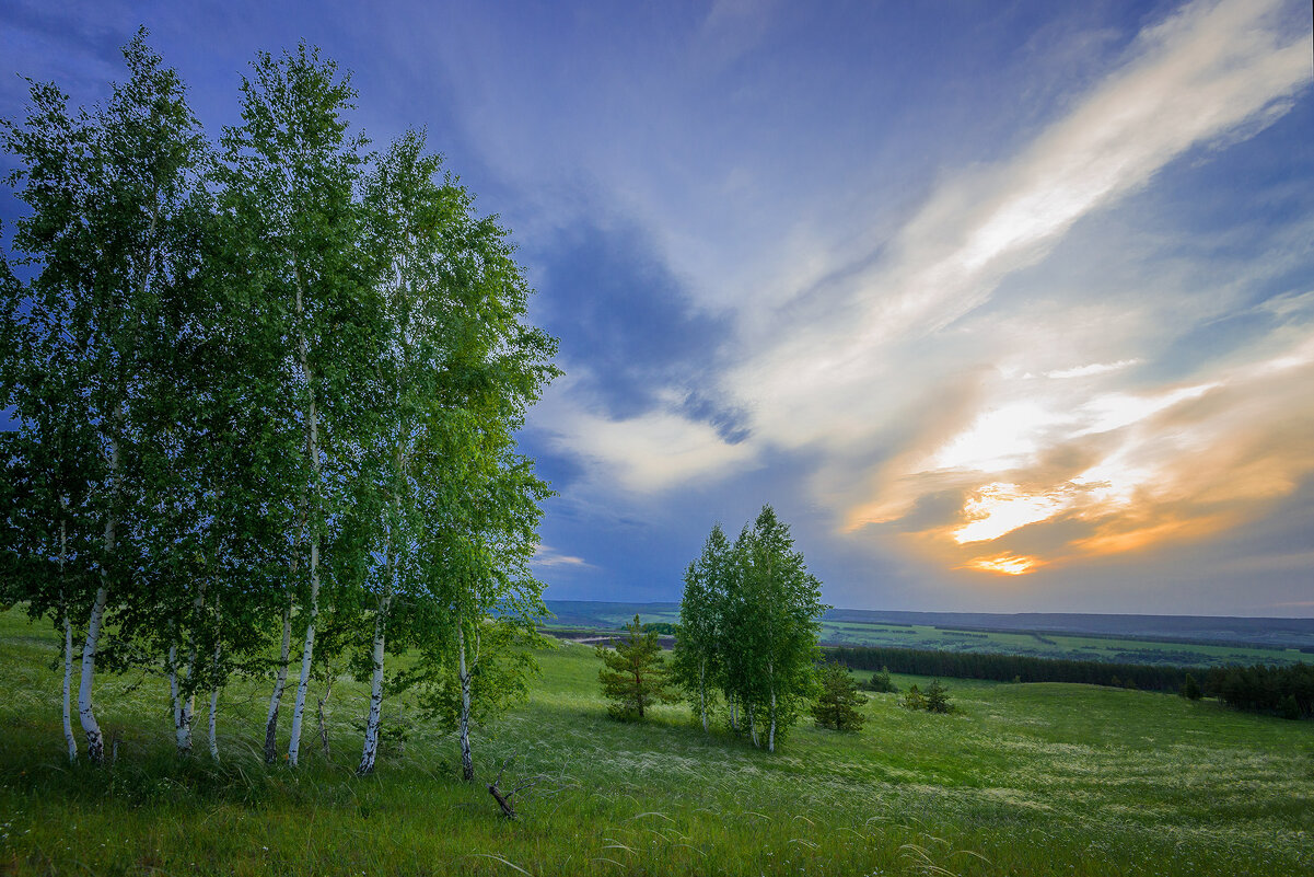
[[(848, 531), (905, 529), (943, 565), (1009, 575), (1251, 519), (1314, 469), (1298, 429), (1314, 408), (1300, 389), (1314, 377), (1307, 346), (1279, 327), (1236, 362), (1156, 385), (1134, 375), (1156, 356), (1138, 348), (1154, 330), (1135, 308), (1123, 326), (1092, 318), (1099, 305), (1074, 289), (1085, 320), (1060, 306), (1046, 326), (1013, 309), (995, 321), (1013, 335), (992, 337), (967, 318), (1168, 163), (1288, 112), (1309, 85), (1311, 41), (1286, 12), (1188, 4), (1016, 156), (945, 175), (879, 258), (832, 266), (840, 292), (775, 322), (745, 302), (724, 389), (749, 412), (748, 440), (728, 444), (674, 406), (622, 422), (576, 412), (564, 440), (636, 490), (738, 472), (767, 448), (807, 451), (813, 496)], [(1307, 326), (1300, 301), (1272, 308)], [(1074, 362), (1080, 351), (1114, 356)], [(890, 446), (892, 422), (922, 427)], [(949, 513), (928, 522), (930, 506)]]

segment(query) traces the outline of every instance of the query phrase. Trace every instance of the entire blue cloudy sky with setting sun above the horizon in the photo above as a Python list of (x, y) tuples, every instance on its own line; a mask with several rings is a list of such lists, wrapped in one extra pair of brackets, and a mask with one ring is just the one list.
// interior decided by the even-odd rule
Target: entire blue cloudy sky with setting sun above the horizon
[(138, 25), (212, 137), (321, 46), (512, 230), (549, 600), (771, 504), (836, 606), (1314, 615), (1307, 3), (9, 0), (0, 116)]

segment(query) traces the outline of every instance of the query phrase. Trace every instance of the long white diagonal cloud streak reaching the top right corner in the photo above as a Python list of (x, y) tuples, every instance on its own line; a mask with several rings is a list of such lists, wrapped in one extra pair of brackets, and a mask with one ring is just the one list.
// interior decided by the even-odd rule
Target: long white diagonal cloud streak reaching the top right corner
[[(1310, 38), (1277, 29), (1281, 4), (1197, 3), (1135, 41), (1133, 59), (1014, 160), (966, 172), (930, 197), (861, 275), (849, 306), (782, 339), (732, 377), (773, 439), (803, 446), (834, 433), (874, 381), (899, 380), (891, 348), (936, 334), (1042, 260), (1083, 216), (1144, 185), (1187, 150), (1254, 135), (1309, 83)], [(848, 421), (845, 421), (848, 427)], [(848, 429), (844, 430), (848, 434)]]

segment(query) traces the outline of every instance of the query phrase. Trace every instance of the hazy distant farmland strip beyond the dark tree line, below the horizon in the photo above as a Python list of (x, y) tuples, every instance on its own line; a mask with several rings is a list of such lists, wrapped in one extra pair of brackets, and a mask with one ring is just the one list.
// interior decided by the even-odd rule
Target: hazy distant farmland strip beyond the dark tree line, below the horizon
[[(678, 622), (675, 604), (552, 604), (558, 618), (553, 625), (619, 628), (637, 611), (645, 622)], [(1175, 664), (1221, 667), (1226, 664), (1314, 663), (1314, 653), (1296, 647), (1242, 643), (1208, 644), (1163, 639), (1117, 638), (1108, 634), (1074, 635), (1053, 631), (982, 631), (946, 626), (824, 621), (821, 642), (832, 646), (894, 646), (955, 652), (1001, 652), (1033, 657), (1062, 657), (1121, 664)]]

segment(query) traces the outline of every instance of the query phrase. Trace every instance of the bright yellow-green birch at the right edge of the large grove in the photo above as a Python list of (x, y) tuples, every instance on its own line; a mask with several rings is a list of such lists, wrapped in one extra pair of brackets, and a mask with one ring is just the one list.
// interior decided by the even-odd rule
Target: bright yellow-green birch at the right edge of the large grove
[(472, 196), (455, 181), (448, 180), (447, 193), (432, 287), (447, 314), (443, 355), (426, 385), (423, 442), (410, 471), (428, 485), (418, 504), (423, 598), (448, 619), (430, 628), (424, 643), (426, 686), (442, 699), (455, 680), (461, 774), (469, 781), (470, 724), (482, 709), (477, 699), (491, 698), (482, 711), (495, 711), (495, 693), (530, 667), (510, 659), (510, 643), (532, 639), (535, 621), (547, 614), (530, 559), (540, 504), (551, 490), (518, 454), (515, 431), (560, 372), (552, 364), (556, 339), (527, 322), (530, 289), (507, 231), (495, 217), (477, 217)]

